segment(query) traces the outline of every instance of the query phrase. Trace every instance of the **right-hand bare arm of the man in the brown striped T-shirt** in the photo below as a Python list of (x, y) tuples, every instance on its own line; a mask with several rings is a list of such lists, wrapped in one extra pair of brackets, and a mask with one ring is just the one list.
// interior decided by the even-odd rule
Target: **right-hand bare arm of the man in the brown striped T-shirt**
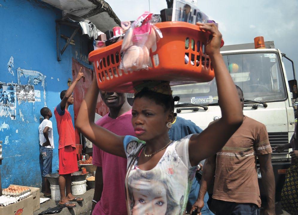
[(275, 180), (270, 154), (258, 154), (260, 162), (260, 171), (262, 175), (262, 184), (265, 188), (267, 197), (267, 208), (265, 214), (275, 214)]

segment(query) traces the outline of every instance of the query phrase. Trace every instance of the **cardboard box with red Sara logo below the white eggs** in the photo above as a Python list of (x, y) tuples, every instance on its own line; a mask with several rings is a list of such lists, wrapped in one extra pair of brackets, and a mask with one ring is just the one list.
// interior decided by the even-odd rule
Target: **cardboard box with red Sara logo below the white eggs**
[(0, 215), (33, 215), (33, 196), (11, 205), (0, 207)]

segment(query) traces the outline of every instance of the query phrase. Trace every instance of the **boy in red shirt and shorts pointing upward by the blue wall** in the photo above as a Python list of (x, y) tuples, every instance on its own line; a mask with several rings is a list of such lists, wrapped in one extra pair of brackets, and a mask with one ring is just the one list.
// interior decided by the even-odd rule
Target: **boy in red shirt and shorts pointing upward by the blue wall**
[[(72, 92), (77, 82), (84, 76), (81, 69), (68, 90), (60, 93), (61, 102), (55, 107), (54, 114), (57, 121), (57, 130), (59, 134), (59, 187), (60, 202), (59, 205), (67, 208), (76, 207), (71, 202), (82, 202), (82, 198), (74, 197), (71, 193), (71, 174), (78, 171), (77, 155), (75, 153), (75, 133), (72, 124), (72, 117), (68, 111), (68, 106), (74, 103)], [(66, 195), (65, 195), (66, 187)]]

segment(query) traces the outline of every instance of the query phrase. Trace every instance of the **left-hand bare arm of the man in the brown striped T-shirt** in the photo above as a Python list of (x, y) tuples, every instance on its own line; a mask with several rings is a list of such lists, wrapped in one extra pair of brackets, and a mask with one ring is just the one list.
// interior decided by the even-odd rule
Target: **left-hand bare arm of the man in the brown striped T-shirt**
[(212, 181), (214, 177), (215, 168), (216, 168), (216, 154), (212, 157), (207, 158), (204, 163), (203, 176), (202, 176), (201, 185), (200, 185), (200, 192), (197, 197), (197, 201), (194, 202), (194, 205), (191, 208), (190, 214), (195, 208), (197, 208), (198, 209), (197, 215), (200, 215), (200, 211), (204, 207), (204, 196), (207, 192), (209, 183)]

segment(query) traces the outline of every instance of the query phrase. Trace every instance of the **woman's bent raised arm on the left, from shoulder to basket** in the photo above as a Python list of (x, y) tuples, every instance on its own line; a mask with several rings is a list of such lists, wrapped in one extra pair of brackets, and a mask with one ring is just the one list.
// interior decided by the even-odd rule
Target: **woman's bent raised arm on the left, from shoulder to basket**
[(123, 147), (124, 136), (116, 135), (94, 123), (98, 94), (99, 89), (94, 77), (81, 103), (75, 127), (98, 148), (110, 154), (126, 158)]

